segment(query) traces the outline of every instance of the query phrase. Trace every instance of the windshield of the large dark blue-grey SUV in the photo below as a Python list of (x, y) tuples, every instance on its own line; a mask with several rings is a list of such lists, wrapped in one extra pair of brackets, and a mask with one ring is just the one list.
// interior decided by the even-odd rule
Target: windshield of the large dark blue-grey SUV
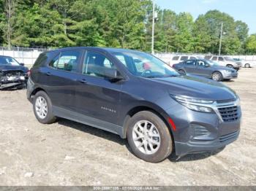
[(180, 74), (163, 61), (145, 52), (118, 50), (112, 52), (137, 77), (178, 77)]

